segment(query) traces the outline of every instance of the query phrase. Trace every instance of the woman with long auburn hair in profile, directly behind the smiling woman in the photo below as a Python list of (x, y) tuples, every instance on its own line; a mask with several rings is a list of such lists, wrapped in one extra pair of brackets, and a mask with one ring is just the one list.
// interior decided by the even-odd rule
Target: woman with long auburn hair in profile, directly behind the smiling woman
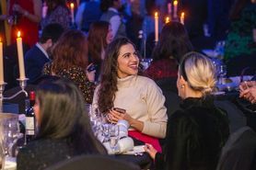
[(93, 22), (88, 31), (88, 56), (91, 62), (96, 65), (96, 82), (100, 80), (102, 61), (104, 60), (105, 50), (113, 40), (110, 23), (106, 21)]

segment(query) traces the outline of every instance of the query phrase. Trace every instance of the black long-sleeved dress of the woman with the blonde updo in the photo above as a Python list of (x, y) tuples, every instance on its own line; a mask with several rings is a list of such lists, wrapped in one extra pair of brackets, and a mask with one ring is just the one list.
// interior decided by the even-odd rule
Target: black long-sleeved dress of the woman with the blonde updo
[(215, 170), (229, 135), (227, 114), (211, 98), (186, 98), (169, 119), (166, 145), (157, 169)]

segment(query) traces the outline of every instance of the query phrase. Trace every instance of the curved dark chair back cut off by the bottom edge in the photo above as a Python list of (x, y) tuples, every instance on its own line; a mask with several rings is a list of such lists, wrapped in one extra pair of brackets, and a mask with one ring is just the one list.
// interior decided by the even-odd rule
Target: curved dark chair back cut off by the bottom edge
[(139, 166), (107, 155), (82, 155), (54, 164), (45, 170), (139, 170)]

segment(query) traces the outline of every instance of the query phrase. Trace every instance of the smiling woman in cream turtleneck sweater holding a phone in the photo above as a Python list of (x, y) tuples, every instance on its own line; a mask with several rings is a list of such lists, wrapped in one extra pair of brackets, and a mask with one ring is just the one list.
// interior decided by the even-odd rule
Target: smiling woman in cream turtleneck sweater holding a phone
[[(127, 120), (130, 136), (135, 134), (134, 138), (139, 141), (143, 141), (140, 137), (145, 134), (150, 138), (164, 138), (168, 119), (165, 97), (153, 80), (138, 72), (139, 57), (134, 44), (126, 38), (112, 41), (106, 51), (102, 79), (93, 104), (108, 115), (112, 123)], [(126, 112), (120, 114), (112, 108), (123, 108)]]

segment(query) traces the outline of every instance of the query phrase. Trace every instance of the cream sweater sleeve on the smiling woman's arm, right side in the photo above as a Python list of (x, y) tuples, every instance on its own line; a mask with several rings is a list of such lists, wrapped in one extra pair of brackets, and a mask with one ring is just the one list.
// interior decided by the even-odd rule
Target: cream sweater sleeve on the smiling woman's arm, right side
[(157, 138), (165, 138), (168, 116), (164, 103), (165, 96), (162, 95), (157, 84), (150, 80), (146, 92), (149, 121), (144, 122), (143, 133)]

